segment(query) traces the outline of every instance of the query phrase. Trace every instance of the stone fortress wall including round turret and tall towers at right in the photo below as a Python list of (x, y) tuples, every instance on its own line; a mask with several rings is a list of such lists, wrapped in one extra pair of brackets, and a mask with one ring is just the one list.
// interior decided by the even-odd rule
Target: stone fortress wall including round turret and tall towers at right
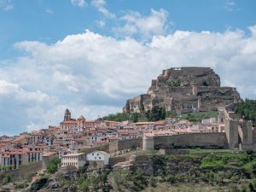
[(173, 147), (240, 148), (256, 151), (256, 130), (252, 121), (238, 121), (228, 108), (219, 113), (225, 132), (190, 133), (173, 136), (143, 137), (143, 150)]

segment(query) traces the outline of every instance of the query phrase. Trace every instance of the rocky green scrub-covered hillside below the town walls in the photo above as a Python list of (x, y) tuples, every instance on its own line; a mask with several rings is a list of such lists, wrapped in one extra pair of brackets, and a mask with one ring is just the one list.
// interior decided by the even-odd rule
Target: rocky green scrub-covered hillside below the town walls
[[(130, 160), (103, 169), (72, 166), (29, 179), (12, 177), (9, 191), (255, 191), (256, 154), (232, 150), (189, 149), (189, 154), (159, 155), (133, 151)], [(29, 174), (29, 173), (28, 173)], [(21, 184), (22, 183), (22, 184)]]

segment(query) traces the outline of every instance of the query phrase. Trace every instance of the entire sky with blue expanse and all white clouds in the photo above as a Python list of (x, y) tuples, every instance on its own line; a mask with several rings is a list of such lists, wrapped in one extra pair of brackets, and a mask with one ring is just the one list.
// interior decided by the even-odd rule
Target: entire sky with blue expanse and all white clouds
[(256, 99), (254, 0), (0, 0), (0, 135), (121, 112), (170, 67)]

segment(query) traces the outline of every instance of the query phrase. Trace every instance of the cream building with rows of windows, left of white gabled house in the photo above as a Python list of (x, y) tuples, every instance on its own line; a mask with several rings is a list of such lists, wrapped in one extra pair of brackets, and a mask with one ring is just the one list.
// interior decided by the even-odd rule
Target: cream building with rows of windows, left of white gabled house
[(83, 167), (86, 164), (85, 154), (66, 154), (61, 157), (61, 166)]

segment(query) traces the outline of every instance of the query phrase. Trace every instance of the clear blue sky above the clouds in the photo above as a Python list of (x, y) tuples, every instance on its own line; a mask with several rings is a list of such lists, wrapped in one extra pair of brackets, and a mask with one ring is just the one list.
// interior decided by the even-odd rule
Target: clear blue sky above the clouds
[[(90, 29), (104, 35), (113, 35), (113, 26), (120, 25), (116, 20), (104, 17), (91, 1), (84, 1), (84, 7), (73, 6), (70, 0), (1, 0), (0, 11), (0, 58), (14, 54), (13, 44), (19, 41), (44, 41), (55, 43), (69, 34)], [(4, 10), (12, 6), (12, 9)], [(121, 17), (128, 10), (149, 15), (150, 9), (165, 9), (168, 21), (174, 30), (224, 32), (227, 28), (243, 29), (256, 21), (256, 2), (226, 0), (112, 0), (106, 8)], [(104, 20), (101, 28), (96, 20)]]

